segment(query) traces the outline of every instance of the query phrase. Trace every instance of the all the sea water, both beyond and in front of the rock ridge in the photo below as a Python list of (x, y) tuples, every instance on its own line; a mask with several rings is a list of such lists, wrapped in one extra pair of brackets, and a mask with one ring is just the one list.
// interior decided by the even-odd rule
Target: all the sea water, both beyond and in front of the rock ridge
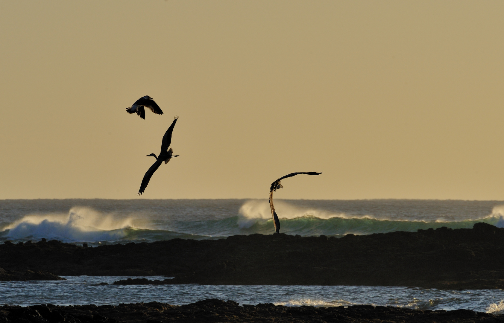
[[(275, 200), (280, 232), (336, 236), (504, 227), (504, 201)], [(0, 242), (41, 238), (101, 245), (172, 238), (218, 239), (272, 234), (267, 200), (0, 200)], [(205, 298), (240, 304), (348, 306), (374, 304), (419, 309), (468, 308), (504, 312), (504, 291), (450, 291), (374, 286), (111, 286), (125, 277), (66, 277), (66, 281), (0, 282), (0, 304), (187, 304)], [(155, 279), (151, 277), (150, 279)], [(164, 279), (164, 278), (162, 278)]]

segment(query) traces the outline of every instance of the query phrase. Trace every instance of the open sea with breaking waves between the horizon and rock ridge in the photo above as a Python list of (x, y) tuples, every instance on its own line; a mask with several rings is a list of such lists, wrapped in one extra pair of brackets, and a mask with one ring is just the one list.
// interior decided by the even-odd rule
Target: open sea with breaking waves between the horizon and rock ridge
[[(341, 237), (477, 222), (504, 227), (502, 201), (275, 200), (280, 232)], [(0, 200), (0, 241), (127, 243), (272, 234), (267, 200)]]

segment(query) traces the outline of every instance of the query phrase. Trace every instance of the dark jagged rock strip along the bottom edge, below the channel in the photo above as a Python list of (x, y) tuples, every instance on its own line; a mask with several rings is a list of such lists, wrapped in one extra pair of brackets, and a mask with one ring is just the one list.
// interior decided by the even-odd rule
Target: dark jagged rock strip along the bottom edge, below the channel
[(3, 323), (161, 323), (161, 322), (504, 322), (500, 315), (474, 312), (413, 310), (357, 305), (340, 307), (286, 307), (273, 304), (243, 305), (206, 299), (182, 306), (164, 303), (0, 307)]

